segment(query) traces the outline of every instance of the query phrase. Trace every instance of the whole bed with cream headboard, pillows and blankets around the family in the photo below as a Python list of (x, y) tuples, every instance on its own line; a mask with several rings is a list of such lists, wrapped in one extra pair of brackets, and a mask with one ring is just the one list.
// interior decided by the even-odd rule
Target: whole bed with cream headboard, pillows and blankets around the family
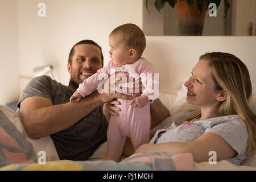
[[(187, 109), (198, 109), (185, 101), (187, 89), (183, 83), (190, 76), (199, 56), (205, 52), (221, 50), (234, 53), (247, 65), (253, 88), (256, 86), (256, 73), (253, 70), (256, 67), (256, 62), (253, 61), (256, 51), (252, 51), (255, 49), (256, 38), (147, 36), (146, 39), (147, 47), (143, 56), (152, 61), (156, 72), (159, 73), (159, 99), (170, 110), (171, 115)], [(187, 50), (187, 53), (184, 53), (184, 50)], [(19, 93), (27, 82), (28, 80), (20, 78)], [(250, 107), (256, 113), (255, 93)], [(241, 166), (227, 160), (221, 160), (217, 164), (195, 163), (189, 154), (187, 160), (182, 162), (186, 164), (184, 168), (175, 166), (176, 157), (179, 156), (166, 154), (131, 156), (128, 159), (122, 156), (121, 163), (114, 163), (104, 160), (106, 142), (102, 143), (87, 161), (59, 160), (51, 137), (30, 139), (24, 131), (20, 115), (14, 110), (0, 105), (0, 124), (0, 170), (256, 170), (256, 155), (246, 159)]]

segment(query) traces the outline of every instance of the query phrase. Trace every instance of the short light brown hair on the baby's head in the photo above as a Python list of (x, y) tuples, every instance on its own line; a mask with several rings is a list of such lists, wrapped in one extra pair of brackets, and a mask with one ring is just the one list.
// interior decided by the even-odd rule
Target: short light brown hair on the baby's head
[(134, 48), (138, 51), (138, 56), (141, 57), (144, 49), (146, 48), (146, 38), (136, 24), (127, 23), (115, 28), (110, 35), (122, 34), (122, 42), (129, 48)]

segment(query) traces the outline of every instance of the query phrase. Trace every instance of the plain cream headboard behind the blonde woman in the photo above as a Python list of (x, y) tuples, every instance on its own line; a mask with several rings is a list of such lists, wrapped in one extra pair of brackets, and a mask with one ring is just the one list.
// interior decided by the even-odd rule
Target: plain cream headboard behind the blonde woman
[(146, 40), (143, 57), (159, 73), (160, 92), (176, 94), (174, 86), (191, 76), (205, 52), (229, 52), (239, 57), (249, 69), (256, 92), (256, 36), (146, 36)]

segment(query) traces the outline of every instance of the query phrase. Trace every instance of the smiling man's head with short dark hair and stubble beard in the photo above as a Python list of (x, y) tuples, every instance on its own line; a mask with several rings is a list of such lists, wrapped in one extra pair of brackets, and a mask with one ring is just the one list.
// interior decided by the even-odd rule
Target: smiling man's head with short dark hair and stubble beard
[(74, 48), (72, 65), (68, 63), (68, 72), (73, 84), (78, 86), (101, 67), (100, 48), (92, 44), (80, 44)]

